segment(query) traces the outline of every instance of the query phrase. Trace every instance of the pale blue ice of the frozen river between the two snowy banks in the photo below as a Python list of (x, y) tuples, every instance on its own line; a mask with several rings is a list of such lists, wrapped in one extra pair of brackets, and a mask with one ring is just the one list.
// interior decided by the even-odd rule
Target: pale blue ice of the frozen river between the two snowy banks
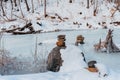
[[(66, 35), (66, 45), (74, 45), (77, 35), (83, 35), (85, 37), (85, 44), (80, 49), (83, 50), (86, 60), (96, 60), (105, 64), (108, 68), (120, 72), (120, 53), (97, 53), (94, 51), (93, 45), (98, 43), (99, 39), (105, 40), (107, 35), (107, 29), (96, 30), (78, 30), (78, 31), (61, 31), (53, 33), (41, 33), (30, 35), (8, 35), (5, 34), (3, 38), (4, 47), (10, 51), (14, 56), (28, 57), (34, 53), (36, 38), (38, 53), (48, 54), (50, 50), (55, 47), (57, 35)], [(114, 29), (113, 41), (120, 46), (120, 29)], [(43, 42), (42, 45), (38, 45)], [(73, 53), (74, 54), (74, 53)]]

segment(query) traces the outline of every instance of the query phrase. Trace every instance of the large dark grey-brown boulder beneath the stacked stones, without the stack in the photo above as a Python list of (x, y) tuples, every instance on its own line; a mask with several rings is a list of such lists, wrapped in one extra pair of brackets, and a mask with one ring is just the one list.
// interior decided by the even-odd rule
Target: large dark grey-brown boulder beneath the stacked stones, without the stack
[(60, 66), (62, 66), (62, 58), (60, 53), (61, 47), (55, 47), (52, 49), (50, 54), (48, 55), (47, 60), (47, 69), (48, 71), (58, 72), (60, 70)]

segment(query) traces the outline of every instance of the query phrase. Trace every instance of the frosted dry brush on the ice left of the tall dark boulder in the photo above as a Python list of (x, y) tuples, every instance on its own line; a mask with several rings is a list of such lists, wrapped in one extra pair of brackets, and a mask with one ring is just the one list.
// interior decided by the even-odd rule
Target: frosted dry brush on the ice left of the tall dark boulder
[(4, 48), (3, 33), (0, 32), (0, 74), (28, 74), (45, 72), (46, 70), (46, 53), (37, 53), (37, 39), (35, 52), (31, 57), (13, 56), (10, 51)]

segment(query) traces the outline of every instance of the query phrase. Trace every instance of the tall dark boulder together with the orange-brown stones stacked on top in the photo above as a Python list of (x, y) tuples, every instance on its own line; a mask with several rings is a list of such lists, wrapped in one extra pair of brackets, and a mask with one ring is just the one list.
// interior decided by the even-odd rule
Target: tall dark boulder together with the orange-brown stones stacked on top
[(52, 72), (58, 72), (62, 66), (62, 58), (60, 49), (65, 49), (65, 35), (58, 35), (58, 41), (56, 42), (56, 47), (48, 55), (47, 60), (47, 70)]

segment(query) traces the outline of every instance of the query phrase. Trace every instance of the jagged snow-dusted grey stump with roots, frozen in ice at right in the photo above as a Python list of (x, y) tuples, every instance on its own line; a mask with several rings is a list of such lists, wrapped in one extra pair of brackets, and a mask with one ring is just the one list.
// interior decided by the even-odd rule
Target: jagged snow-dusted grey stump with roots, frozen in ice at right
[(106, 39), (104, 41), (99, 40), (99, 43), (94, 45), (96, 51), (105, 51), (108, 53), (120, 52), (120, 49), (113, 42), (113, 30), (109, 29)]

